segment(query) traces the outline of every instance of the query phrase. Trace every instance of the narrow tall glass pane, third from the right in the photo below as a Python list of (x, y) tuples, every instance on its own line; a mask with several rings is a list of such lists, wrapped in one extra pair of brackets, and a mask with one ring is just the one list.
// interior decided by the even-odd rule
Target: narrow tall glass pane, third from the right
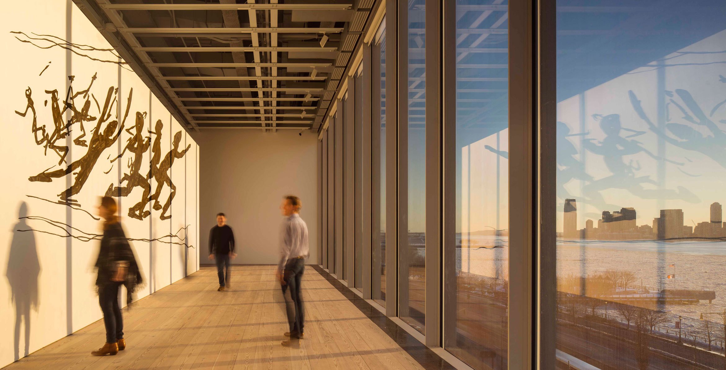
[(401, 319), (424, 328), (426, 243), (425, 0), (408, 2), (408, 237), (399, 258), (408, 269), (401, 282)]

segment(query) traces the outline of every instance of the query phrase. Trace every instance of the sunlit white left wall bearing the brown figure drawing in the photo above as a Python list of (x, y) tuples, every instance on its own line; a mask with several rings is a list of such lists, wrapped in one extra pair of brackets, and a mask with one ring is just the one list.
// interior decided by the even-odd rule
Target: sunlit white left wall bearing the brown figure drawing
[(200, 251), (195, 140), (73, 2), (5, 6), (0, 366), (102, 318), (99, 196), (119, 203), (138, 298), (195, 272)]

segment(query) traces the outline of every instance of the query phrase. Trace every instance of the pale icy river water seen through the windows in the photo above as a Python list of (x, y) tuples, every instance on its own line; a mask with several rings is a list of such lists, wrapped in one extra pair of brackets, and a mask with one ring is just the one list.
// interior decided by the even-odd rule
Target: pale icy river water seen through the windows
[[(471, 237), (479, 245), (494, 244), (494, 237)], [(499, 237), (506, 241), (506, 237)], [(457, 253), (457, 268), (487, 277), (507, 278), (509, 251), (504, 248), (462, 248)], [(516, 256), (511, 256), (515, 258)], [(675, 267), (670, 265), (674, 264)], [(716, 299), (690, 305), (667, 304), (674, 319), (684, 317), (684, 327), (699, 325), (701, 312), (718, 312), (726, 308), (726, 242), (724, 241), (599, 241), (560, 240), (557, 244), (557, 274), (566, 277), (587, 276), (606, 270), (635, 274), (650, 289), (714, 290)], [(674, 274), (674, 279), (667, 275)], [(722, 322), (718, 316), (710, 321)], [(672, 327), (672, 323), (666, 324)]]

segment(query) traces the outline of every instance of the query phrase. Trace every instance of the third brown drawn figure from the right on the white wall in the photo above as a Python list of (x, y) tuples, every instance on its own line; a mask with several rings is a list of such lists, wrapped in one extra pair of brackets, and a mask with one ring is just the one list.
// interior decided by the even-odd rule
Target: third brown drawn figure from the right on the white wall
[[(113, 186), (113, 183), (109, 185), (106, 190), (106, 196), (129, 196), (131, 191), (137, 186), (144, 189), (142, 199), (148, 199), (151, 193), (151, 185), (149, 179), (141, 174), (141, 166), (144, 161), (144, 153), (149, 150), (151, 146), (151, 138), (149, 136), (144, 140), (144, 119), (146, 119), (146, 112), (136, 112), (136, 133), (134, 133), (129, 140), (126, 141), (126, 147), (123, 148), (121, 154), (111, 160), (111, 163), (121, 159), (126, 151), (130, 151), (134, 154), (134, 158), (130, 159), (129, 173), (124, 173), (121, 177), (120, 183), (126, 182), (126, 186)], [(127, 133), (131, 134), (131, 127), (126, 130)], [(142, 204), (143, 203), (143, 204)], [(137, 205), (142, 204), (140, 207), (133, 206), (129, 209), (129, 217), (134, 219), (144, 219), (149, 216), (150, 211), (144, 211), (144, 206), (147, 202), (139, 202)]]

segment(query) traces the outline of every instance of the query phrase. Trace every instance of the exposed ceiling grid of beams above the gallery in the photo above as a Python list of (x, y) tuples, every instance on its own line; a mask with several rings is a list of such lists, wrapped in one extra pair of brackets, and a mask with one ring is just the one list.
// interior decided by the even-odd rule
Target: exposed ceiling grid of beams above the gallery
[(266, 131), (319, 128), (373, 3), (74, 1), (105, 20), (97, 27), (123, 41), (188, 128)]

